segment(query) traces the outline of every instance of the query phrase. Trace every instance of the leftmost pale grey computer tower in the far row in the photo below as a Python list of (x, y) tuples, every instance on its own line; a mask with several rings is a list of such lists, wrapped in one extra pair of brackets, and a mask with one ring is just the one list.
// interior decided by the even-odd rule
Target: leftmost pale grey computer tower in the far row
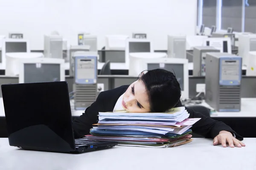
[(63, 37), (44, 35), (44, 57), (63, 59)]

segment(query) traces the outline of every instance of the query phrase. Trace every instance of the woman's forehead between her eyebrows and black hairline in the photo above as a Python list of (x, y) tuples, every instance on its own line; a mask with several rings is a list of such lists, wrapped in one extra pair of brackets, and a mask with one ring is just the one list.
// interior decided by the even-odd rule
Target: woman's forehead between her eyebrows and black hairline
[(143, 105), (145, 109), (149, 108), (149, 98), (145, 85), (141, 80), (134, 82), (134, 92), (137, 101)]

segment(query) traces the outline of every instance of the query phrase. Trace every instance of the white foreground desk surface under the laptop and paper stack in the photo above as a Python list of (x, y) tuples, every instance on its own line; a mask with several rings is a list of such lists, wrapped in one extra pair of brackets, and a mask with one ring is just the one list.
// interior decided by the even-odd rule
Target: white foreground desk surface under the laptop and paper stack
[[(1, 170), (255, 170), (256, 138), (245, 138), (246, 147), (213, 146), (211, 139), (194, 139), (170, 148), (116, 146), (82, 154), (20, 150), (0, 139)], [(169, 169), (167, 168), (167, 169)]]

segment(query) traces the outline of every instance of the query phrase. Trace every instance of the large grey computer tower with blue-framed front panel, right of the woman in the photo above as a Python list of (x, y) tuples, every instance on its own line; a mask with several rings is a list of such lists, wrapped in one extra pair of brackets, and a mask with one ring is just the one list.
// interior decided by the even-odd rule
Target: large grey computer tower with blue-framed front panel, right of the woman
[(234, 54), (206, 54), (205, 101), (216, 111), (241, 110), (241, 63)]

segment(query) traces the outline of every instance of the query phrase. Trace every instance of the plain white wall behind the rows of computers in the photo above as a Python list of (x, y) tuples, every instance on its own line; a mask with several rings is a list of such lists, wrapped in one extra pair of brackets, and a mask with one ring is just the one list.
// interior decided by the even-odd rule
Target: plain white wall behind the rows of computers
[(142, 31), (154, 49), (167, 49), (167, 34), (195, 34), (197, 0), (0, 0), (0, 34), (24, 34), (32, 50), (44, 48), (43, 35), (57, 30), (77, 44), (77, 34), (98, 36)]

